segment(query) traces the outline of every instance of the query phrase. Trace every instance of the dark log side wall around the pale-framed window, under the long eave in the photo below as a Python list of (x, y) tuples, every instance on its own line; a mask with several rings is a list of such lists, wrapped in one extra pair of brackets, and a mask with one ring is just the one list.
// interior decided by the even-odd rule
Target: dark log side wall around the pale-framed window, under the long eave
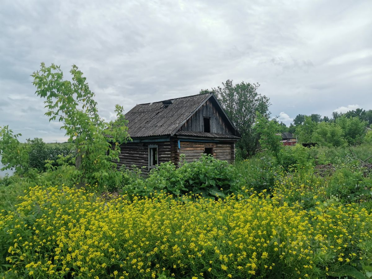
[[(143, 173), (148, 173), (148, 146), (157, 145), (158, 147), (158, 164), (169, 162), (171, 160), (171, 143), (166, 142), (128, 142), (126, 144), (121, 144), (119, 163), (117, 163), (117, 168), (120, 169), (123, 165), (127, 170), (133, 170), (132, 165), (135, 165), (141, 169)], [(174, 149), (174, 147), (173, 147)], [(174, 155), (173, 155), (174, 158)]]

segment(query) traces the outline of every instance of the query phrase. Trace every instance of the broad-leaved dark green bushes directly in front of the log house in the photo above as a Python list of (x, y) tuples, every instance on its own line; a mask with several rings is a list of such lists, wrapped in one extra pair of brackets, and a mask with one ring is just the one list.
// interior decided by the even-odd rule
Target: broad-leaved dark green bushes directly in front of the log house
[(132, 174), (124, 171), (125, 186), (129, 194), (150, 196), (154, 191), (164, 190), (173, 195), (185, 195), (189, 192), (207, 198), (224, 198), (237, 191), (236, 170), (226, 161), (203, 155), (199, 160), (181, 166), (161, 163), (152, 169), (146, 179), (141, 179), (140, 170)]

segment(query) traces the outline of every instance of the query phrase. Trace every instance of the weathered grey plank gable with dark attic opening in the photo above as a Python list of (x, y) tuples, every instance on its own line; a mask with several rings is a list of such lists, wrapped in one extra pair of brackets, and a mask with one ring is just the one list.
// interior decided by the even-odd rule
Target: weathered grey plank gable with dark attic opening
[(214, 101), (207, 100), (180, 128), (180, 131), (204, 132), (203, 118), (211, 119), (211, 133), (216, 134), (234, 134), (234, 131), (227, 125), (224, 116), (217, 109)]

